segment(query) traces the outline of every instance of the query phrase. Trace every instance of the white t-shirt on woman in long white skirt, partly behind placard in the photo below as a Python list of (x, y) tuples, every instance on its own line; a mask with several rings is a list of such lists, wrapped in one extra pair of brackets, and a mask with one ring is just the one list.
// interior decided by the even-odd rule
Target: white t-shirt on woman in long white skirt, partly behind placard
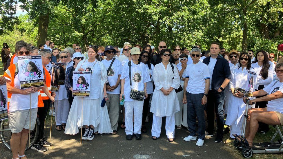
[[(89, 97), (84, 97), (85, 99), (98, 99), (101, 95), (100, 81), (107, 81), (104, 78), (107, 78), (106, 69), (104, 64), (100, 61), (95, 60), (94, 62), (88, 62), (88, 60), (80, 61), (75, 69), (78, 71), (79, 68), (83, 68), (84, 71), (90, 71), (90, 94)], [(102, 76), (102, 77), (101, 77)]]

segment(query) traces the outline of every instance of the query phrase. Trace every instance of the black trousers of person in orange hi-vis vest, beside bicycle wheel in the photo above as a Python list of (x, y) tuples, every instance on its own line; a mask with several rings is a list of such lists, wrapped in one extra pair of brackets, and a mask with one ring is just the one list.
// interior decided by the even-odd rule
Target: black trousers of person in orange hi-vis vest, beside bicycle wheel
[(49, 100), (49, 99), (48, 100), (42, 100), (42, 101), (43, 101), (44, 107), (38, 107), (37, 108), (37, 115), (38, 115), (39, 123), (40, 123), (37, 142), (39, 142), (41, 139), (43, 139), (44, 122), (45, 122), (45, 118), (46, 118), (46, 115), (47, 115), (47, 111), (48, 111), (48, 109), (50, 107), (50, 103), (51, 103), (51, 100)]

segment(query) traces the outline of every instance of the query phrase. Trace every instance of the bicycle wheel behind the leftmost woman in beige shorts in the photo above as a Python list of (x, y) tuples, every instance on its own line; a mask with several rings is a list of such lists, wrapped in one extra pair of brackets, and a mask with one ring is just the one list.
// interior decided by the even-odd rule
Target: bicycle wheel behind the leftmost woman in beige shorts
[[(32, 147), (33, 144), (35, 144), (38, 134), (39, 134), (39, 119), (36, 119), (35, 122), (35, 129), (31, 130), (34, 131), (34, 135), (31, 135), (31, 139), (30, 139), (30, 145), (29, 145), (29, 139), (26, 145), (26, 150), (30, 149), (30, 147)], [(11, 146), (10, 146), (10, 140), (11, 140), (11, 136), (12, 136), (12, 132), (9, 128), (9, 123), (8, 123), (8, 119), (2, 120), (0, 123), (0, 136), (2, 139), (2, 142), (4, 143), (4, 145), (11, 151)]]

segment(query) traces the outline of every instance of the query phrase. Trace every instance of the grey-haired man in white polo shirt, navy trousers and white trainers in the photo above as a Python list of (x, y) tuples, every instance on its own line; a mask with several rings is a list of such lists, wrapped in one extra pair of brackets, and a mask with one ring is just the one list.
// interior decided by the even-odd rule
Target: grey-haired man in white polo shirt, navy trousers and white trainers
[[(186, 78), (184, 82), (184, 97), (183, 103), (187, 104), (187, 118), (188, 128), (191, 132), (189, 136), (185, 137), (185, 141), (191, 141), (197, 139), (197, 146), (204, 144), (205, 138), (205, 121), (204, 110), (209, 90), (209, 70), (208, 66), (201, 61), (201, 50), (199, 48), (193, 48), (190, 52), (193, 63), (189, 64), (186, 68)], [(198, 130), (196, 124), (196, 117), (198, 121)]]

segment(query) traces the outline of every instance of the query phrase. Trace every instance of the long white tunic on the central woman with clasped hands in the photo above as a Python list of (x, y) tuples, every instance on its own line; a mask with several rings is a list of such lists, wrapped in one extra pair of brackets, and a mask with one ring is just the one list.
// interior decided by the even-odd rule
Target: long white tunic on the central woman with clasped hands
[[(167, 69), (163, 63), (155, 65), (153, 69), (153, 81), (155, 84), (155, 90), (153, 92), (150, 112), (153, 112), (155, 116), (173, 116), (176, 112), (180, 111), (179, 101), (175, 90), (169, 95), (165, 96), (160, 90), (169, 89), (173, 87), (179, 88), (180, 76), (177, 71), (177, 67), (174, 66), (174, 74), (170, 63), (167, 65)], [(174, 80), (172, 79), (174, 77)]]

